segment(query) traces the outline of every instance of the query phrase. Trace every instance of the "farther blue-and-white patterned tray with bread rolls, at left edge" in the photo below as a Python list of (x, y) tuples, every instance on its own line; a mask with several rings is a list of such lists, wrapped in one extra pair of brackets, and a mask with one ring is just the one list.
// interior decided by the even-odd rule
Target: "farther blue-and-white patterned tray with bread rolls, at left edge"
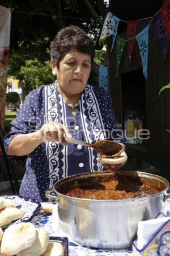
[(32, 220), (41, 204), (21, 196), (0, 197), (0, 228)]

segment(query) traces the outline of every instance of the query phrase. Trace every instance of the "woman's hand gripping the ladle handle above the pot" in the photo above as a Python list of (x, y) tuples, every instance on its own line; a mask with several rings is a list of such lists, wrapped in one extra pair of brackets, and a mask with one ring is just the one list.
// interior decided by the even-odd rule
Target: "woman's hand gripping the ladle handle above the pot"
[(71, 134), (69, 133), (69, 129), (58, 122), (45, 123), (45, 125), (42, 125), (40, 129), (40, 134), (42, 142), (58, 141), (62, 145), (67, 145), (67, 142), (64, 141), (64, 135), (66, 137), (72, 138)]

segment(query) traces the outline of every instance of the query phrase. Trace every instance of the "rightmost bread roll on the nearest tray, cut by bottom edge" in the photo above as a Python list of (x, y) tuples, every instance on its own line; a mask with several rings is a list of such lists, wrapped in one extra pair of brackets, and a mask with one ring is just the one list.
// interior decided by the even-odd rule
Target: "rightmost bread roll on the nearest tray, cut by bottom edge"
[(61, 243), (55, 242), (55, 243), (49, 243), (46, 251), (41, 256), (64, 256), (65, 251), (63, 249), (63, 246)]

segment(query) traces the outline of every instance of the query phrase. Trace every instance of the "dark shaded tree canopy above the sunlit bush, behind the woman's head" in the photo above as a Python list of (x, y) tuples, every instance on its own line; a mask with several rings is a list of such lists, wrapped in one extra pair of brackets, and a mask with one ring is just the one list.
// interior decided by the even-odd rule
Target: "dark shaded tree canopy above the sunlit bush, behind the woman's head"
[(83, 28), (97, 42), (107, 14), (103, 0), (1, 0), (1, 5), (11, 10), (12, 53), (42, 62), (49, 58), (50, 40), (70, 24)]

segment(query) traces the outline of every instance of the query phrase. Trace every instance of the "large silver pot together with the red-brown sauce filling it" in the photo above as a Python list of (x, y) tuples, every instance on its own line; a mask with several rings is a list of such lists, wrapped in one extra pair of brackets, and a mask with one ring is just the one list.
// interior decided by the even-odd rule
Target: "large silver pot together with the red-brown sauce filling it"
[(145, 172), (88, 172), (59, 180), (46, 197), (58, 201), (58, 225), (71, 240), (124, 249), (137, 238), (139, 221), (167, 213), (168, 187), (163, 177)]

